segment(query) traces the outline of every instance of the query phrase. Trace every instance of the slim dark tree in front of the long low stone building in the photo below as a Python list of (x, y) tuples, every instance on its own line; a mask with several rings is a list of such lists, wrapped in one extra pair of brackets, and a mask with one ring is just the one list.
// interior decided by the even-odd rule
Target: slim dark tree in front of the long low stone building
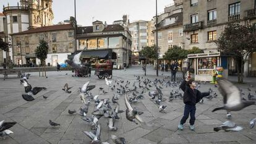
[[(39, 46), (37, 46), (35, 49), (35, 55), (38, 59), (40, 59), (41, 65), (44, 67), (45, 67), (45, 59), (47, 58), (47, 54), (48, 54), (48, 49), (49, 49), (49, 46), (46, 41), (40, 41)], [(45, 76), (46, 76), (46, 70), (45, 70)]]

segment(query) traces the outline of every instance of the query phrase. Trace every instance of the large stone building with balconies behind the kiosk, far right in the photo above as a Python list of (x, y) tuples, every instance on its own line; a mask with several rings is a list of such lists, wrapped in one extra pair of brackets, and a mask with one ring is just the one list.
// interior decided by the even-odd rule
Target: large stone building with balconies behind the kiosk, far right
[[(226, 24), (240, 22), (241, 25), (256, 23), (256, 1), (239, 0), (183, 0), (184, 48), (196, 46), (205, 53), (217, 52), (215, 40), (221, 35)], [(228, 59), (228, 69), (235, 69), (234, 59)], [(250, 66), (250, 67), (249, 67)], [(256, 53), (245, 64), (244, 74), (256, 70)]]

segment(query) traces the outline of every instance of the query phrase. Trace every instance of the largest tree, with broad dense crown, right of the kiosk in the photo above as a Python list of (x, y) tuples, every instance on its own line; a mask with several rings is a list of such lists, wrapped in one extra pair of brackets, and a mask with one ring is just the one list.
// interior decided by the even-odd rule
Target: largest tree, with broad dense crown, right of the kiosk
[(236, 59), (237, 78), (244, 82), (244, 63), (256, 51), (256, 28), (253, 25), (229, 23), (215, 42), (222, 54)]

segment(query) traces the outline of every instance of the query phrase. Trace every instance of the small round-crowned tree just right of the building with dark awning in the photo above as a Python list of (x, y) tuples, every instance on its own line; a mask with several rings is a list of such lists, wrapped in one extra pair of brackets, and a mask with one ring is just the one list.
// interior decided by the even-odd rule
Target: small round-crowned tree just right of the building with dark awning
[(156, 56), (158, 56), (158, 54), (156, 54), (156, 46), (146, 46), (142, 48), (142, 51), (140, 51), (141, 56), (146, 57), (146, 62), (145, 62), (145, 75), (146, 75), (146, 71), (147, 71), (147, 63), (148, 63), (148, 59), (156, 59)]

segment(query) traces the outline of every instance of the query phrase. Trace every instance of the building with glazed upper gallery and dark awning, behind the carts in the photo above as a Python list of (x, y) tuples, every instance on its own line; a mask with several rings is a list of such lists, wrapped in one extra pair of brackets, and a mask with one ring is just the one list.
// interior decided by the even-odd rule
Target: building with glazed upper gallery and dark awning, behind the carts
[[(131, 38), (129, 29), (120, 24), (108, 25), (96, 20), (92, 26), (77, 28), (77, 52), (83, 51), (83, 62), (95, 63), (111, 59), (115, 66), (130, 64)], [(117, 67), (116, 67), (117, 68)]]

